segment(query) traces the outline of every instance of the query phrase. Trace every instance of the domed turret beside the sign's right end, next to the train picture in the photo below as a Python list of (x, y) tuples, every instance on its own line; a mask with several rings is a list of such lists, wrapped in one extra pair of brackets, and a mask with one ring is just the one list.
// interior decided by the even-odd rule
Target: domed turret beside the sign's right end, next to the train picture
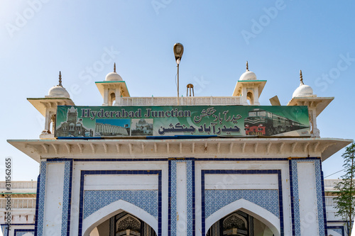
[(317, 116), (326, 108), (334, 97), (317, 97), (313, 89), (303, 83), (302, 70), (300, 70), (300, 86), (293, 92), (293, 98), (288, 106), (308, 106), (308, 114), (311, 123), (311, 136), (320, 137), (320, 130), (317, 128)]

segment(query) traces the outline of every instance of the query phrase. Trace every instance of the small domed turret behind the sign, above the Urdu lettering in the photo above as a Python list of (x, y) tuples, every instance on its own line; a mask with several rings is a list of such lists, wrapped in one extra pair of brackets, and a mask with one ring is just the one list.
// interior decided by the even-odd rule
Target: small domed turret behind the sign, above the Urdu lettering
[[(256, 74), (249, 71), (248, 61), (246, 62), (246, 72), (241, 74), (232, 96), (240, 96), (243, 105), (260, 105), (259, 97), (266, 84), (266, 80), (256, 79)], [(249, 103), (248, 103), (249, 101)]]

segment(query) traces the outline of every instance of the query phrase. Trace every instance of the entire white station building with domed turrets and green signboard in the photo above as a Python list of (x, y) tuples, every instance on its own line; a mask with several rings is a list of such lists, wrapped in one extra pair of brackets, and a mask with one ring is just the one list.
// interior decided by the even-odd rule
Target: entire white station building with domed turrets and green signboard
[[(40, 163), (40, 175), (34, 222), (3, 232), (342, 235), (322, 162), (352, 140), (320, 137), (317, 116), (334, 98), (317, 97), (300, 80), (288, 106), (260, 106), (266, 81), (248, 68), (224, 97), (131, 97), (111, 72), (96, 82), (102, 107), (75, 106), (60, 82), (45, 98), (28, 99), (45, 116), (40, 139), (8, 140)], [(94, 130), (101, 117), (152, 131), (54, 135), (74, 110), (78, 130)], [(15, 232), (20, 227), (27, 231)]]

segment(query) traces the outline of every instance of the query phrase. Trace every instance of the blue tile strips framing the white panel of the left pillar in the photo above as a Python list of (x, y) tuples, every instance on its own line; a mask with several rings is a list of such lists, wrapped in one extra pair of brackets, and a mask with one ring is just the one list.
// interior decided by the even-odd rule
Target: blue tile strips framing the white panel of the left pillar
[(64, 183), (63, 183), (63, 198), (62, 198), (62, 229), (61, 235), (69, 235), (70, 227), (70, 202), (72, 195), (72, 161), (55, 161), (48, 160), (47, 162), (40, 163), (40, 187), (38, 196), (37, 208), (37, 222), (35, 223), (35, 235), (43, 235), (43, 215), (45, 204), (45, 180), (47, 175), (47, 165), (50, 163), (64, 163)]

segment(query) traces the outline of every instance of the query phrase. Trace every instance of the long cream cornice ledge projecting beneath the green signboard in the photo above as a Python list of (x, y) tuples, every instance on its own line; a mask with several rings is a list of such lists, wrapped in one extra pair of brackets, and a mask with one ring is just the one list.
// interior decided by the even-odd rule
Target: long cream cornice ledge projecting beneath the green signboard
[(40, 162), (49, 158), (162, 157), (322, 157), (322, 161), (352, 140), (321, 137), (209, 138), (174, 140), (8, 140)]

